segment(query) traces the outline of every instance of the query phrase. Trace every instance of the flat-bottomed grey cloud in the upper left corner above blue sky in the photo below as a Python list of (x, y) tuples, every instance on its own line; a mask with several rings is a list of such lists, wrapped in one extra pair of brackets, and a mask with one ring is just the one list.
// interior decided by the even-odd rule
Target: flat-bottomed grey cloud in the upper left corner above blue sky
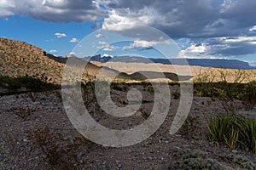
[(0, 17), (14, 14), (53, 22), (102, 20), (106, 12), (93, 0), (2, 0)]

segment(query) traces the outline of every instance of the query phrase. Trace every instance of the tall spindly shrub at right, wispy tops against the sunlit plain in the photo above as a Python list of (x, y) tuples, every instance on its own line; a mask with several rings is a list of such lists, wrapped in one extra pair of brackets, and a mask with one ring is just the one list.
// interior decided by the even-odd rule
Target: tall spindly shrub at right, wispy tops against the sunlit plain
[[(220, 100), (221, 105), (228, 114), (234, 114), (237, 109), (233, 102), (234, 99), (253, 100), (247, 95), (249, 93), (252, 94), (252, 89), (248, 89), (247, 93), (243, 93), (246, 85), (242, 82), (248, 77), (245, 71), (228, 71), (221, 69), (218, 70), (218, 75), (218, 82), (214, 82), (213, 79), (210, 79), (210, 77), (214, 78), (216, 76), (207, 74), (204, 75), (204, 77), (207, 78), (197, 80), (197, 82), (195, 82), (195, 94)], [(228, 81), (228, 78), (232, 80)], [(250, 105), (249, 102), (244, 103)]]

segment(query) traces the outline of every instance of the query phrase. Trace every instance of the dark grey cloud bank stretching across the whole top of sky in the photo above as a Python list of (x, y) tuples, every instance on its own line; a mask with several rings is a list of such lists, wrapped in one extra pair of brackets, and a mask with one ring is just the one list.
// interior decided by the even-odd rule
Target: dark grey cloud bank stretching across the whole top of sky
[[(3, 0), (0, 16), (21, 14), (37, 20), (79, 23), (103, 19), (103, 29), (130, 29), (126, 36), (140, 30), (132, 25), (144, 24), (174, 39), (189, 38), (194, 42), (187, 49), (189, 53), (204, 49), (202, 55), (236, 56), (255, 53), (256, 43), (247, 39), (256, 36), (255, 8), (255, 0)], [(131, 27), (113, 27), (116, 24)]]

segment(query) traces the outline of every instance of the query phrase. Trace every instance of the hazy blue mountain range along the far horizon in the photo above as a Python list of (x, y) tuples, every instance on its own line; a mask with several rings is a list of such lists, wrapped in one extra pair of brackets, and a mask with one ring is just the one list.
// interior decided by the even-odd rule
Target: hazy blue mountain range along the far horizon
[[(99, 61), (106, 63), (108, 61), (112, 62), (124, 62), (124, 63), (160, 63), (164, 65), (186, 65), (184, 59), (152, 59), (143, 57), (133, 57), (133, 56), (104, 56), (96, 55), (93, 57), (85, 57), (85, 60)], [(212, 68), (224, 68), (224, 69), (240, 69), (240, 70), (253, 70), (256, 67), (250, 66), (247, 62), (236, 60), (236, 59), (186, 59), (187, 64), (191, 66), (202, 66), (202, 67), (212, 67)]]

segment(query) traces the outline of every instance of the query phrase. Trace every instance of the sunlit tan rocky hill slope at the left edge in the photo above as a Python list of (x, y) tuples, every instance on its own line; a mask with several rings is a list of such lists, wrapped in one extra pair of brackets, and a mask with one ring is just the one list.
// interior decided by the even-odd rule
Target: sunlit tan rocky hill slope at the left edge
[(0, 38), (0, 72), (3, 76), (38, 76), (60, 83), (63, 64), (49, 59), (43, 49), (26, 42)]

